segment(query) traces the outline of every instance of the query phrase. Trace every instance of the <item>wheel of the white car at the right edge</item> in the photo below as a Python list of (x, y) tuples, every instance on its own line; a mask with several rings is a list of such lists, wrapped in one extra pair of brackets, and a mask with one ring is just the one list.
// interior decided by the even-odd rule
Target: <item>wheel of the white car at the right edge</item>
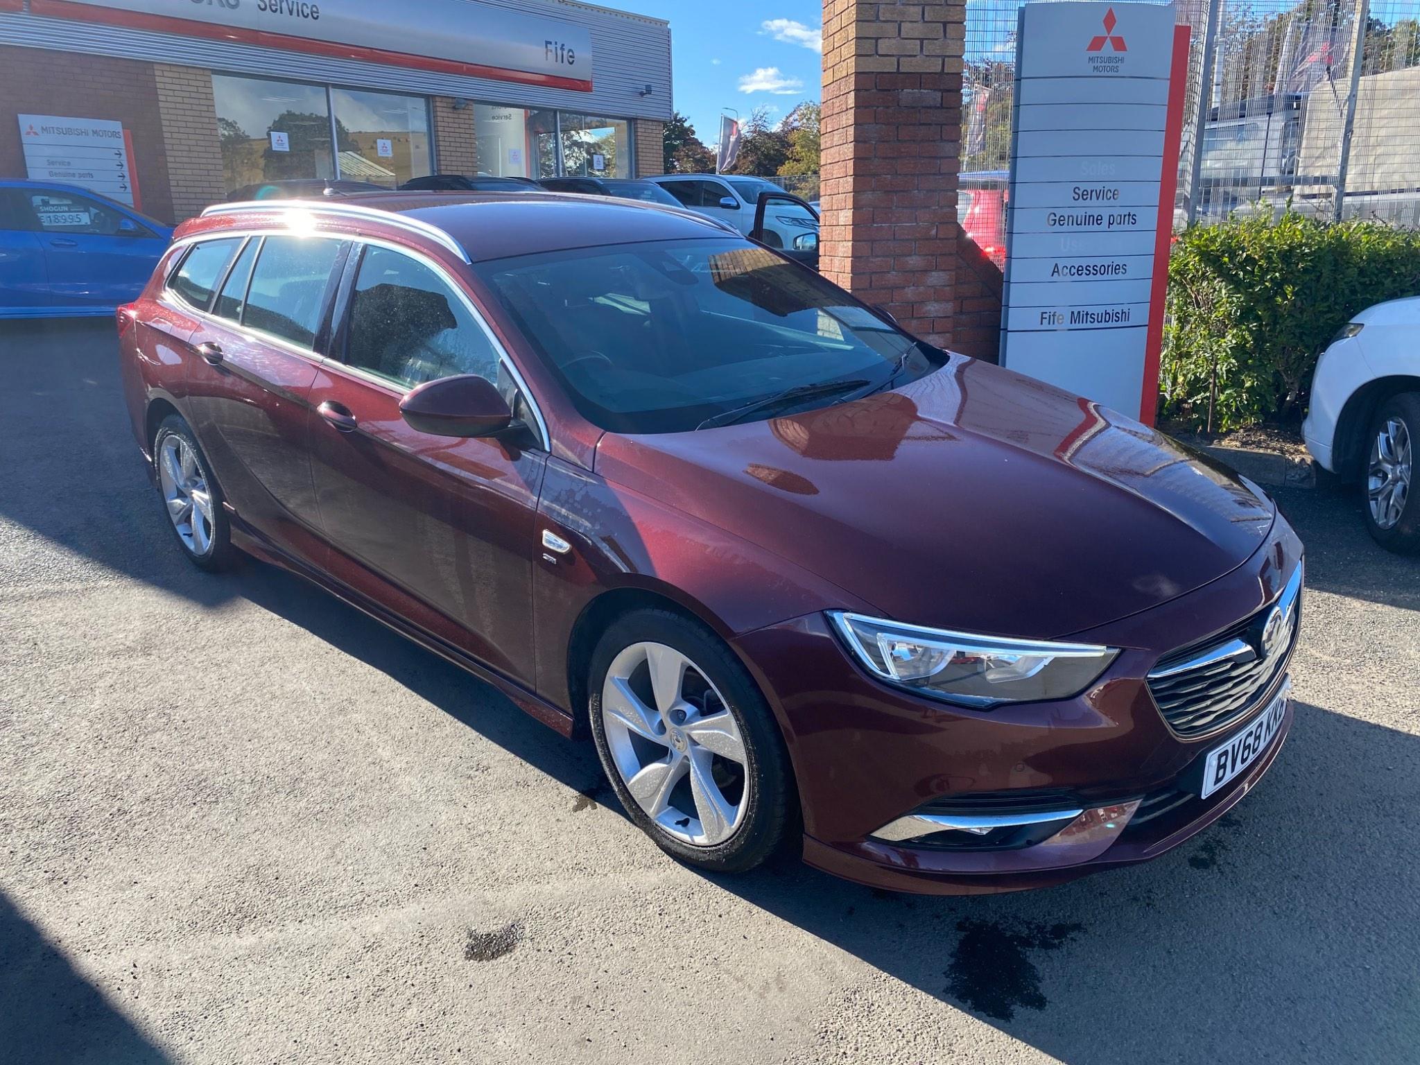
[(1414, 444), (1420, 440), (1420, 392), (1392, 396), (1366, 435), (1362, 503), (1366, 528), (1387, 551), (1420, 550), (1420, 503), (1414, 500)]

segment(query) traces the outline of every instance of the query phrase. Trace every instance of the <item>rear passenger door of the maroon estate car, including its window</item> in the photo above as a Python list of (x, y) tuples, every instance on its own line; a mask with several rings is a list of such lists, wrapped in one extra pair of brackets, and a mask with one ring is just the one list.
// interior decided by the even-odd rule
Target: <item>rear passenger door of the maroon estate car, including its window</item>
[(187, 406), (240, 518), (284, 551), (322, 564), (310, 389), (349, 244), (284, 233), (239, 243), (187, 339)]

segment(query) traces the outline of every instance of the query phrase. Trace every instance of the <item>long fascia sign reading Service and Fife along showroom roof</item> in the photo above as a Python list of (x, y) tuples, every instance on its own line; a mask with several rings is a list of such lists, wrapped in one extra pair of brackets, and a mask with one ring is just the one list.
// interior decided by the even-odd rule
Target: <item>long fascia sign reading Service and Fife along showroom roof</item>
[(30, 14), (592, 89), (586, 27), (470, 0), (30, 0)]

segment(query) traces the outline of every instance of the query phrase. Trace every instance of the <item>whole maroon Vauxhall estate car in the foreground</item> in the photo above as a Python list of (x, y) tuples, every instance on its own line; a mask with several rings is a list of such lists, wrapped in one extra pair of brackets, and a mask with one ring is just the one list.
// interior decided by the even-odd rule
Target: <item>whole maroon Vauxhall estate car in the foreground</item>
[(1291, 726), (1302, 545), (1255, 486), (717, 222), (226, 204), (118, 325), (193, 562), (287, 567), (585, 728), (701, 868), (1066, 880), (1216, 821)]

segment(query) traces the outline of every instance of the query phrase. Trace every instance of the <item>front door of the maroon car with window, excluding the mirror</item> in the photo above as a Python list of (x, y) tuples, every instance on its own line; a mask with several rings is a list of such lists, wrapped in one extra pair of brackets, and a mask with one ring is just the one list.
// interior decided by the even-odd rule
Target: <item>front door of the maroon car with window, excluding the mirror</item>
[(358, 564), (332, 555), (332, 568), (534, 687), (542, 430), (443, 437), (399, 413), (409, 389), (457, 373), (484, 376), (511, 399), (511, 364), (454, 278), (417, 254), (366, 244), (346, 267), (342, 298), (344, 328), (311, 389), (321, 520), (335, 552)]

